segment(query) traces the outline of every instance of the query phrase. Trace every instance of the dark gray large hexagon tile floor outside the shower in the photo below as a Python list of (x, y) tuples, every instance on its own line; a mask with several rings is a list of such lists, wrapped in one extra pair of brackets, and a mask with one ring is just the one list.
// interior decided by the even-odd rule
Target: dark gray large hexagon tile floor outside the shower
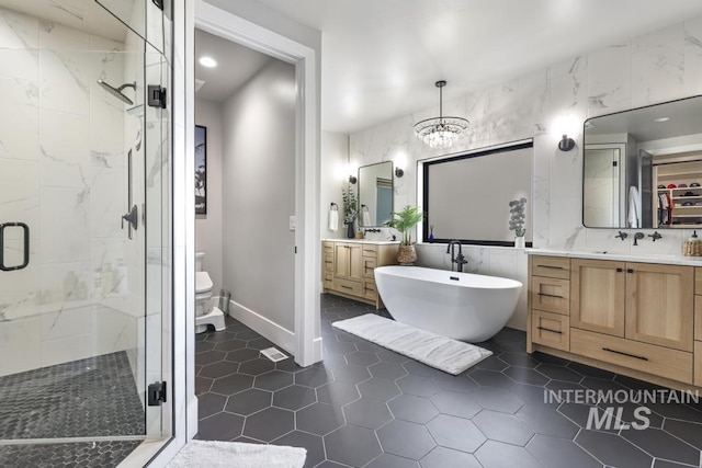
[[(308, 368), (263, 361), (270, 342), (230, 318), (226, 332), (199, 334), (197, 438), (305, 447), (306, 467), (318, 468), (700, 466), (702, 404), (652, 406), (644, 431), (587, 430), (589, 406), (544, 401), (544, 390), (657, 387), (529, 355), (511, 329), (480, 343), (494, 355), (454, 377), (331, 327), (369, 312), (322, 295), (325, 358)], [(624, 407), (631, 423), (634, 407)]]

